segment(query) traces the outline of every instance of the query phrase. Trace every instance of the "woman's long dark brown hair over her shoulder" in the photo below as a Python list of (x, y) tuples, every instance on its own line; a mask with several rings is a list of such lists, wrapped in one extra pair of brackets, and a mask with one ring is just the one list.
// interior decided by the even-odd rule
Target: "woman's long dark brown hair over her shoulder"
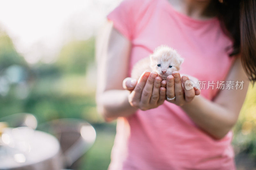
[[(217, 0), (216, 0), (217, 1)], [(217, 1), (219, 19), (224, 33), (233, 39), (233, 52), (241, 54), (244, 70), (256, 81), (256, 0)]]

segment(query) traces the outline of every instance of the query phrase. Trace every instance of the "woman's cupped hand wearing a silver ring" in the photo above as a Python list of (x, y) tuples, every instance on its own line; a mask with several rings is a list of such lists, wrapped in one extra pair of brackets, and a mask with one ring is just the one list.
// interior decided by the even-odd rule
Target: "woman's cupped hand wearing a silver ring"
[(185, 88), (185, 82), (187, 80), (189, 80), (188, 76), (183, 75), (180, 78), (180, 73), (178, 71), (173, 71), (172, 75), (167, 77), (166, 97), (168, 97), (169, 99), (172, 99), (175, 97), (174, 99), (167, 100), (167, 101), (174, 103), (178, 106), (182, 106), (185, 103), (191, 102), (194, 99), (195, 95), (200, 94), (199, 89)]

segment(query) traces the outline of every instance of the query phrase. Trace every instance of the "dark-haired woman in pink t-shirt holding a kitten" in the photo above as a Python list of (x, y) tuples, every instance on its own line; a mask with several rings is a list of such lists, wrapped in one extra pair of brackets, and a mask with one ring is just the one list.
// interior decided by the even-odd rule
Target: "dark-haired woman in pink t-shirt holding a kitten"
[[(256, 80), (255, 0), (124, 0), (108, 20), (97, 105), (106, 121), (117, 118), (109, 169), (235, 169), (231, 128)], [(180, 73), (199, 79), (200, 95), (178, 72), (126, 78), (161, 44), (185, 59)], [(231, 88), (236, 81), (243, 87)]]

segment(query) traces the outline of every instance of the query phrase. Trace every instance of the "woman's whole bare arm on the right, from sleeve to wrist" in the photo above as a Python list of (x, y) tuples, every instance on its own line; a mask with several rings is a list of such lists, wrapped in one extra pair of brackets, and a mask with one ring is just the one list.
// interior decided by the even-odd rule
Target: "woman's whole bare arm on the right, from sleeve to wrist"
[(182, 106), (201, 129), (217, 139), (224, 137), (236, 124), (250, 83), (239, 57), (229, 70), (226, 82), (228, 80), (243, 80), (242, 88), (221, 89), (214, 101), (195, 96), (194, 100)]

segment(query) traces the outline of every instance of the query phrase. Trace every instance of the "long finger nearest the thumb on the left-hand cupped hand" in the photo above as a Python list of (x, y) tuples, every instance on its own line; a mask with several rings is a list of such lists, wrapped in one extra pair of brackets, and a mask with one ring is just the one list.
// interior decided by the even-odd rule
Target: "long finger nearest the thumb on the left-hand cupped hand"
[[(147, 82), (148, 76), (150, 72), (145, 71), (139, 78), (137, 85), (135, 86), (134, 90), (132, 91), (130, 97), (132, 103), (139, 103), (141, 98), (142, 90)], [(135, 104), (132, 104), (135, 105)]]

